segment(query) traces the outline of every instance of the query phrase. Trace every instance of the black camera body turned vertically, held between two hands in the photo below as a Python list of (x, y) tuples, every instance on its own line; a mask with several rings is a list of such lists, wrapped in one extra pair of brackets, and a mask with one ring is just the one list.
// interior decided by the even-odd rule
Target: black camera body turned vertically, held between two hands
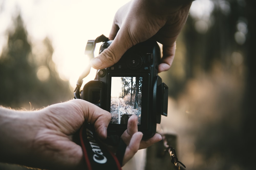
[[(111, 42), (103, 42), (99, 53)], [(121, 136), (133, 114), (144, 139), (156, 133), (168, 104), (168, 86), (158, 76), (160, 60), (157, 42), (148, 40), (131, 47), (113, 66), (97, 70), (95, 79), (84, 85), (81, 99), (112, 115), (108, 135)]]

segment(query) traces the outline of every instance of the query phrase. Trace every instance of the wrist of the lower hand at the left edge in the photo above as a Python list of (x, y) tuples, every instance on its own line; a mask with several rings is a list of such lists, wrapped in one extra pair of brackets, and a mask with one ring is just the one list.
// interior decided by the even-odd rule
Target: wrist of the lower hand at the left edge
[(35, 136), (35, 112), (0, 108), (0, 162), (27, 164)]

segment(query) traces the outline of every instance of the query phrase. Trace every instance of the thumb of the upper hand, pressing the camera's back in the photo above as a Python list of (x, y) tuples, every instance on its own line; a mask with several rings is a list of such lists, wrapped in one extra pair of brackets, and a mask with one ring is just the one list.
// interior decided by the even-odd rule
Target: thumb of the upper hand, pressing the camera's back
[(92, 68), (104, 69), (113, 66), (120, 60), (123, 54), (133, 46), (133, 43), (131, 40), (129, 40), (129, 38), (125, 38), (125, 36), (119, 35), (116, 35), (110, 46), (104, 49), (99, 56), (91, 59)]

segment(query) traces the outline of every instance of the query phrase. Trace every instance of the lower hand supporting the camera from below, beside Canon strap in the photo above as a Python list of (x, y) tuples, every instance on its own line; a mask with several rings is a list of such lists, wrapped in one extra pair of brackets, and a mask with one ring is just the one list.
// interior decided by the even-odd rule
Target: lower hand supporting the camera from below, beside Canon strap
[[(129, 121), (133, 122), (127, 129), (130, 136), (124, 138), (128, 147), (123, 163), (140, 146), (142, 133), (136, 131), (136, 117)], [(43, 169), (85, 169), (82, 148), (72, 136), (87, 121), (94, 124), (98, 137), (105, 139), (111, 114), (85, 100), (75, 99), (38, 111), (0, 108), (0, 118), (1, 162)]]

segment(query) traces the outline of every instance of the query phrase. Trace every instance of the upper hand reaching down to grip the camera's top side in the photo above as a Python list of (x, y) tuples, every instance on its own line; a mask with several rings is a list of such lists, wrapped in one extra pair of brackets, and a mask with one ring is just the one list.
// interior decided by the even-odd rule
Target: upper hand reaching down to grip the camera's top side
[(133, 0), (115, 14), (109, 35), (114, 40), (98, 57), (91, 60), (95, 69), (103, 69), (118, 62), (133, 45), (148, 39), (163, 44), (163, 57), (158, 72), (170, 68), (176, 39), (182, 30), (192, 1)]

